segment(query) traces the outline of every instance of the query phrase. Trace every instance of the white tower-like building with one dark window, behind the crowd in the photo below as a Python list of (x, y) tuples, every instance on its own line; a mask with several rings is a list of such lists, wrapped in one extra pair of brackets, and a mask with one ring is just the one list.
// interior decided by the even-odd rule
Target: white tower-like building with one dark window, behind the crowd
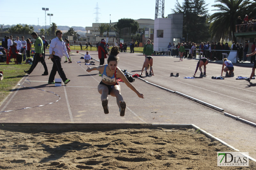
[[(154, 51), (167, 48), (174, 38), (182, 38), (183, 14), (169, 14), (168, 18), (156, 18), (154, 24)], [(163, 30), (163, 37), (159, 37), (157, 30)], [(159, 49), (160, 48), (160, 49)]]

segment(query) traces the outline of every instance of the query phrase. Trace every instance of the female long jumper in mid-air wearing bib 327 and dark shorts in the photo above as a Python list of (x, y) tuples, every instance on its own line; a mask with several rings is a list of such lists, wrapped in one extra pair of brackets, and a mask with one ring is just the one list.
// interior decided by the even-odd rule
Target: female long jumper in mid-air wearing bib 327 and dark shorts
[(114, 46), (111, 49), (108, 57), (108, 64), (99, 65), (98, 67), (88, 67), (86, 71), (91, 72), (92, 70), (98, 70), (102, 74), (102, 79), (98, 85), (98, 92), (101, 94), (101, 102), (105, 114), (108, 114), (108, 95), (116, 97), (116, 102), (119, 107), (120, 116), (124, 116), (126, 104), (121, 95), (121, 88), (118, 85), (116, 78), (121, 78), (124, 83), (132, 89), (140, 98), (144, 98), (143, 94), (140, 93), (125, 77), (124, 73), (117, 67), (119, 57), (118, 47)]

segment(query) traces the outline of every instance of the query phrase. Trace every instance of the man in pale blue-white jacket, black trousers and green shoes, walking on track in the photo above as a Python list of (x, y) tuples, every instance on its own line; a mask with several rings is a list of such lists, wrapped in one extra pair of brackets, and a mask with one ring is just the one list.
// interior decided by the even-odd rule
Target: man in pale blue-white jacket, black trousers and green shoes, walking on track
[(67, 52), (67, 48), (65, 45), (65, 42), (62, 40), (62, 32), (60, 30), (56, 31), (56, 38), (52, 39), (49, 52), (50, 52), (50, 58), (52, 60), (52, 71), (49, 76), (48, 84), (55, 84), (54, 77), (56, 75), (56, 72), (58, 71), (60, 78), (64, 82), (64, 84), (68, 84), (70, 82), (70, 79), (68, 79), (61, 67), (61, 57), (63, 54), (68, 58), (68, 61), (70, 62), (70, 58)]

